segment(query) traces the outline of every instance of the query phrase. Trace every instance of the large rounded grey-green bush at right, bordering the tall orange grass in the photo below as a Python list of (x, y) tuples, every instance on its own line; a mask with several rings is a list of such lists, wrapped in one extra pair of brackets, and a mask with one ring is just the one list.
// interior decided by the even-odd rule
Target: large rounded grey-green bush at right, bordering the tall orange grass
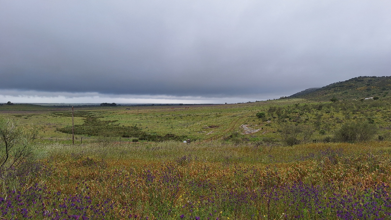
[(335, 132), (335, 140), (342, 142), (368, 141), (373, 138), (377, 128), (368, 122), (345, 122), (341, 129)]

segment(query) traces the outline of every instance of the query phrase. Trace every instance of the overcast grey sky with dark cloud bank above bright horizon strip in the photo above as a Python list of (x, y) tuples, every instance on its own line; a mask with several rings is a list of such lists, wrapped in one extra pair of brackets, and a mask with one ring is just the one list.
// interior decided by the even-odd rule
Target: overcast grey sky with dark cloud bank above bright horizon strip
[(237, 103), (391, 75), (391, 1), (0, 0), (0, 103)]

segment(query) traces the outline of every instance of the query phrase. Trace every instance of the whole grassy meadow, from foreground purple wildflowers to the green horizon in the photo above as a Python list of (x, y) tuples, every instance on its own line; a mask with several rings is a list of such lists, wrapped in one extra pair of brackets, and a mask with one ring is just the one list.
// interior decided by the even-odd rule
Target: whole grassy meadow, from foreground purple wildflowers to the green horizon
[[(72, 120), (69, 107), (6, 106), (2, 116), (41, 130), (26, 166), (10, 170), (13, 178), (2, 175), (1, 217), (390, 219), (389, 104), (378, 101), (78, 107), (75, 124), (95, 117), (113, 134), (77, 134), (75, 145), (59, 131)], [(259, 111), (265, 118), (255, 116)], [(323, 141), (354, 120), (369, 121), (377, 133), (368, 141)], [(245, 124), (260, 131), (245, 134)], [(311, 126), (313, 134), (287, 145), (281, 137), (286, 124)], [(117, 127), (135, 125), (147, 134), (198, 140), (119, 141), (123, 128)]]

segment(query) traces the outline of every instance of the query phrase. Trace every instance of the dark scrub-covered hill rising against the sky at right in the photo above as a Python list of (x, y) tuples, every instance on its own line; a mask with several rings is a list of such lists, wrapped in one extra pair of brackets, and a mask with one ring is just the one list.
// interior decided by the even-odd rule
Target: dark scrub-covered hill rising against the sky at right
[(305, 98), (325, 101), (332, 97), (339, 100), (369, 97), (386, 97), (391, 90), (390, 77), (355, 77), (343, 82), (335, 82), (322, 88), (309, 88), (286, 98)]

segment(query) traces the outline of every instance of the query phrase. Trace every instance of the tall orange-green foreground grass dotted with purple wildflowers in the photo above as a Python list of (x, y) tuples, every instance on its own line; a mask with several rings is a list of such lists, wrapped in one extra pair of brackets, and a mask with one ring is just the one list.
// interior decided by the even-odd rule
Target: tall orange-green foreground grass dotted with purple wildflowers
[(383, 219), (389, 142), (42, 144), (6, 219)]

